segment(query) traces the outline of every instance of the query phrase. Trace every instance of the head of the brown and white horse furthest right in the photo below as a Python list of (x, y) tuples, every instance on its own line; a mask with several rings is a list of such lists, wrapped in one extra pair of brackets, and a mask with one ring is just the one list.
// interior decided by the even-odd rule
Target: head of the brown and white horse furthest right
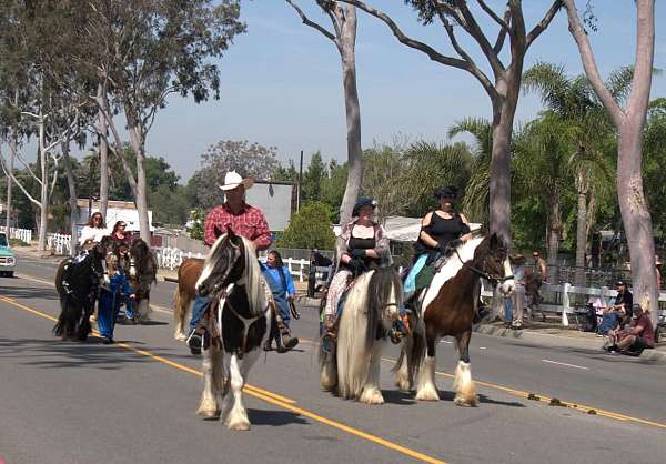
[(480, 269), (493, 286), (500, 285), (500, 292), (508, 296), (514, 288), (515, 281), (508, 256), (506, 240), (493, 233), (486, 238), (474, 252), (473, 265)]

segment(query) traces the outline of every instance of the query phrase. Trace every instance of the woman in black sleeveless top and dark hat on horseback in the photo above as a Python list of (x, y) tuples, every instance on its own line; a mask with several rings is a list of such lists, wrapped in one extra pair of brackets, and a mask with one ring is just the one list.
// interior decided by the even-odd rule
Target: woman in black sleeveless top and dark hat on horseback
[(418, 241), (414, 244), (415, 260), (427, 253), (428, 261), (432, 261), (440, 253), (444, 253), (448, 245), (460, 244), (472, 236), (467, 218), (453, 209), (457, 189), (438, 189), (435, 196), (440, 199), (440, 209), (427, 213), (421, 223)]

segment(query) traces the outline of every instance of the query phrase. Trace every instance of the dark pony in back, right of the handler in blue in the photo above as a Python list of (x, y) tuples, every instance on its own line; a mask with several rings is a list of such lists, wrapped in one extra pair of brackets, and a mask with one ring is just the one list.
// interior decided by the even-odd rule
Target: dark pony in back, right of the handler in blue
[(142, 239), (138, 238), (132, 241), (128, 258), (124, 260), (123, 269), (132, 293), (135, 295), (134, 301), (134, 321), (142, 323), (148, 320), (150, 312), (150, 289), (157, 282), (158, 264), (155, 258)]

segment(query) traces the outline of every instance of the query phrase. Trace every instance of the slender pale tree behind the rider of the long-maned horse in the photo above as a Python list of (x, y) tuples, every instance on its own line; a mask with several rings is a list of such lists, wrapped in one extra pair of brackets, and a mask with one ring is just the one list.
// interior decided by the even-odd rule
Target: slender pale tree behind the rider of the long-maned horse
[(347, 180), (342, 204), (340, 205), (340, 223), (344, 224), (352, 216), (352, 210), (363, 182), (361, 105), (359, 104), (359, 90), (356, 88), (356, 9), (349, 4), (342, 7), (335, 0), (314, 0), (331, 20), (333, 27), (333, 31), (331, 31), (312, 21), (294, 0), (286, 0), (286, 2), (296, 11), (304, 24), (331, 40), (340, 53), (347, 127)]

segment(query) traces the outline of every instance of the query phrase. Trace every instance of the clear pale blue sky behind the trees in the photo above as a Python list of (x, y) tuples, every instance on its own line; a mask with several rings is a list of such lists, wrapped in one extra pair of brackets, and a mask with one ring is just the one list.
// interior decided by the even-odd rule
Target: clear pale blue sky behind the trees
[[(582, 8), (586, 0), (578, 0)], [(331, 29), (314, 0), (295, 0), (322, 26)], [(367, 0), (390, 13), (413, 38), (445, 54), (453, 50), (441, 24), (424, 27), (403, 0)], [(471, 2), (472, 3), (472, 2)], [(503, 11), (505, 0), (490, 0)], [(547, 10), (549, 0), (525, 0), (527, 27)], [(656, 2), (655, 67), (666, 69), (666, 8)], [(632, 64), (635, 51), (635, 7), (630, 0), (592, 0), (598, 31), (591, 41), (603, 75)], [(200, 157), (221, 140), (249, 140), (276, 147), (282, 162), (305, 165), (313, 152), (324, 160), (346, 158), (346, 125), (340, 56), (333, 42), (304, 26), (284, 0), (244, 0), (241, 17), (248, 31), (236, 37), (220, 62), (221, 99), (196, 104), (172, 97), (157, 117), (148, 135), (151, 155), (163, 157), (182, 182), (200, 168)], [(482, 13), (482, 24), (494, 37), (494, 24)], [(492, 32), (492, 33), (491, 33)], [(460, 30), (462, 38), (464, 31)], [(477, 63), (475, 43), (462, 40)], [(505, 47), (506, 48), (506, 47)], [(561, 11), (529, 49), (525, 69), (536, 61), (561, 63), (569, 75), (583, 72), (579, 54)], [(506, 60), (505, 60), (506, 62)], [(447, 142), (446, 131), (467, 117), (491, 117), (488, 97), (465, 71), (430, 61), (393, 37), (380, 20), (359, 11), (356, 40), (357, 85), (362, 118), (362, 143), (407, 140)], [(484, 69), (487, 70), (487, 67)], [(666, 94), (666, 74), (653, 80), (653, 98)], [(541, 109), (536, 95), (522, 94), (516, 124), (534, 118)]]

